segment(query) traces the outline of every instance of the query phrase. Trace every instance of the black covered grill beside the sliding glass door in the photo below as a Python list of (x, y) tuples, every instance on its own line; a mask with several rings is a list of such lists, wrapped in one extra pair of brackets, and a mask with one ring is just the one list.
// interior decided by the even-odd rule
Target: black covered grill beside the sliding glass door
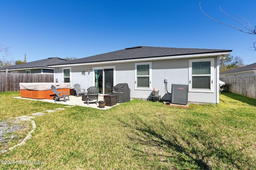
[(113, 87), (112, 94), (116, 94), (118, 103), (130, 102), (130, 91), (127, 83), (120, 83)]

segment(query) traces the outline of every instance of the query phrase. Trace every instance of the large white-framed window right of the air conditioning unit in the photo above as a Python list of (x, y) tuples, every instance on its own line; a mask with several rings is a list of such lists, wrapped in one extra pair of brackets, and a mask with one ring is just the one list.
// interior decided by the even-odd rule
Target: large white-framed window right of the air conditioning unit
[(189, 91), (214, 92), (214, 58), (189, 60)]

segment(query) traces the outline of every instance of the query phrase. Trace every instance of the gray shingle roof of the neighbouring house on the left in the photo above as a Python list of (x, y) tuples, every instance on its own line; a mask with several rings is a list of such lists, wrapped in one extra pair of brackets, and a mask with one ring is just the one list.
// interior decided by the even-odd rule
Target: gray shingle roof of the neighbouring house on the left
[(53, 58), (48, 58), (48, 59), (23, 63), (23, 64), (16, 64), (16, 65), (13, 65), (13, 66), (2, 67), (2, 68), (0, 68), (0, 70), (21, 69), (21, 68), (38, 68), (38, 67), (48, 68), (47, 65), (49, 65), (49, 64), (57, 64), (57, 63), (61, 63), (63, 61), (67, 61), (67, 60), (60, 59), (58, 57), (53, 57)]

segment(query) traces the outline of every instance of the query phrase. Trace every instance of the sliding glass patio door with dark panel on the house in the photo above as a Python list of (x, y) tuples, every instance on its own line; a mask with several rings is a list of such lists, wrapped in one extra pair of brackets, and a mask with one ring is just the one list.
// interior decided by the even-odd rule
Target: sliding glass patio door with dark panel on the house
[(100, 94), (111, 94), (114, 85), (114, 68), (95, 68), (94, 86)]

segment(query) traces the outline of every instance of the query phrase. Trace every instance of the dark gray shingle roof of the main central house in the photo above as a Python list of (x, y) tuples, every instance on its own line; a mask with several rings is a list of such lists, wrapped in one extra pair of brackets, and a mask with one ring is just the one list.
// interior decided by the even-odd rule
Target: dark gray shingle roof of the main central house
[[(201, 53), (218, 53), (218, 52), (231, 52), (231, 51), (232, 50), (137, 46), (137, 47), (126, 48), (126, 49), (113, 51), (109, 53), (85, 57), (82, 59), (66, 61), (61, 64), (93, 63), (93, 62), (102, 62), (102, 61), (117, 61), (117, 60), (129, 60), (129, 59), (142, 59), (142, 58), (150, 58), (150, 57), (164, 57), (164, 56), (190, 55), (190, 54), (201, 54)], [(54, 64), (50, 64), (50, 65), (54, 65)]]

